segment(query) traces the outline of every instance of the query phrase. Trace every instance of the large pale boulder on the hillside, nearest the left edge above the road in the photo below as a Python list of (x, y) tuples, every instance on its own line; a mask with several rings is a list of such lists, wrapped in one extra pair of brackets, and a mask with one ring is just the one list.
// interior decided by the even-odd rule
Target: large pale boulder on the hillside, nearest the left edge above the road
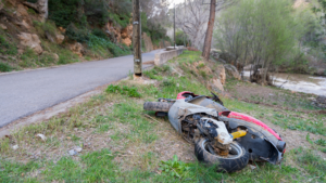
[(27, 34), (27, 32), (21, 32), (18, 35), (18, 39), (21, 40), (21, 44), (24, 48), (30, 48), (34, 50), (37, 54), (40, 54), (43, 52), (43, 49), (41, 48), (38, 36), (35, 34)]

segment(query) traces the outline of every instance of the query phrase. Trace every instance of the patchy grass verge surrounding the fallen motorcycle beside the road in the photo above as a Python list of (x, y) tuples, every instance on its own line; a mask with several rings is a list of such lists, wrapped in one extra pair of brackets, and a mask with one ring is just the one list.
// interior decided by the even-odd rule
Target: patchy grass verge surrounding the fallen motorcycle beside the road
[[(305, 143), (294, 146), (296, 142), (289, 141), (292, 146), (289, 145), (281, 168), (252, 162), (254, 170), (248, 166), (240, 172), (223, 174), (198, 164), (193, 146), (175, 132), (166, 118), (142, 110), (145, 101), (173, 99), (180, 91), (210, 94), (206, 81), (217, 77), (218, 64), (200, 61), (199, 52), (186, 51), (167, 65), (146, 71), (147, 77), (154, 79), (150, 84), (123, 80), (68, 113), (2, 139), (0, 182), (326, 181), (322, 153), (325, 115), (278, 110), (222, 95), (226, 107), (263, 119), (277, 130), (298, 132), (302, 136), (293, 141)], [(289, 120), (280, 118), (285, 115)], [(305, 128), (289, 128), (299, 125)], [(312, 128), (316, 129), (315, 134)], [(37, 136), (39, 133), (47, 139)], [(77, 147), (83, 151), (71, 156), (68, 151)]]

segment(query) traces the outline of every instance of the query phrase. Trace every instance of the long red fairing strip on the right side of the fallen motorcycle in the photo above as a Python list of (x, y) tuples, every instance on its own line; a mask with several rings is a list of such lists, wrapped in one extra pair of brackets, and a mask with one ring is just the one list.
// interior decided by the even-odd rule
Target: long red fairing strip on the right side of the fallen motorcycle
[(275, 131), (273, 129), (271, 129), (268, 126), (266, 126), (264, 122), (255, 119), (254, 117), (241, 114), (241, 113), (236, 113), (236, 112), (230, 112), (229, 114), (225, 114), (225, 113), (220, 113), (221, 116), (227, 116), (228, 118), (236, 118), (236, 119), (241, 119), (244, 120), (247, 122), (253, 122), (255, 125), (261, 126), (262, 128), (264, 128), (265, 130), (267, 130), (269, 133), (272, 133), (275, 138), (277, 138), (279, 141), (281, 141), (281, 139), (279, 138), (279, 135), (277, 133), (275, 133)]

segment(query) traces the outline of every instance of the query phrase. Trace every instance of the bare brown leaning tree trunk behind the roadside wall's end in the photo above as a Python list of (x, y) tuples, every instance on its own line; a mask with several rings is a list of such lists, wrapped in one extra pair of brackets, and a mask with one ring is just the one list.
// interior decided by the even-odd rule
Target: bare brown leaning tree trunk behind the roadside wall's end
[(206, 61), (210, 60), (213, 28), (214, 28), (214, 22), (215, 22), (215, 5), (216, 5), (216, 0), (211, 0), (210, 21), (209, 21), (209, 25), (208, 25), (205, 42), (204, 42), (203, 52), (202, 52), (202, 56)]

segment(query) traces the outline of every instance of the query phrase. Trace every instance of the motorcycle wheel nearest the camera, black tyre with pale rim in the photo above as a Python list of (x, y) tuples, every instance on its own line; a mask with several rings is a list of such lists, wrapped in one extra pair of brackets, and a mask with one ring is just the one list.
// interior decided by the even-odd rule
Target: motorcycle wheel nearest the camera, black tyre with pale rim
[(208, 147), (208, 140), (201, 139), (196, 143), (195, 154), (199, 161), (216, 166), (218, 172), (235, 172), (243, 169), (249, 161), (249, 154), (237, 142), (230, 144), (229, 155), (218, 156), (212, 154)]

